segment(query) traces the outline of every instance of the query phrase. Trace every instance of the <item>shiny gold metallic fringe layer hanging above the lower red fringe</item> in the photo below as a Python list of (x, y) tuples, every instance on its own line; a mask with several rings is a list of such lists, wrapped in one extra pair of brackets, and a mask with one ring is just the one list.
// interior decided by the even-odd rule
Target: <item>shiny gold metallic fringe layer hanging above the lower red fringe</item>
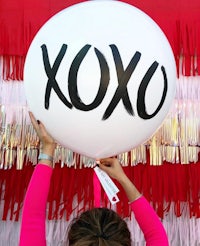
[[(147, 153), (151, 165), (162, 165), (164, 162), (188, 164), (198, 161), (200, 120), (195, 113), (197, 105), (190, 102), (187, 110), (184, 104), (176, 103), (176, 107), (176, 111), (168, 115), (149, 141), (117, 156), (123, 166), (145, 164)], [(28, 163), (37, 164), (39, 139), (30, 120), (27, 121), (26, 107), (22, 107), (21, 115), (21, 124), (15, 120), (7, 123), (5, 106), (0, 105), (1, 169), (9, 169), (12, 165), (22, 169), (23, 165)], [(89, 168), (95, 165), (94, 159), (78, 155), (60, 145), (56, 147), (54, 162), (60, 163), (61, 167), (67, 165), (73, 168)]]

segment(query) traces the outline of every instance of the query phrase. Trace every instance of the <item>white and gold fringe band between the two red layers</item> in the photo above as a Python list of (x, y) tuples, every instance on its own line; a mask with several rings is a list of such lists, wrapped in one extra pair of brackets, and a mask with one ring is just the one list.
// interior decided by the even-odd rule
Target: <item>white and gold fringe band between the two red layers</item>
[[(117, 156), (123, 166), (196, 163), (200, 145), (200, 77), (177, 79), (173, 106), (162, 126), (146, 143)], [(0, 81), (0, 168), (37, 164), (39, 139), (30, 123), (23, 82)], [(150, 159), (147, 158), (150, 152)], [(95, 160), (57, 146), (54, 162), (73, 168), (94, 167)]]

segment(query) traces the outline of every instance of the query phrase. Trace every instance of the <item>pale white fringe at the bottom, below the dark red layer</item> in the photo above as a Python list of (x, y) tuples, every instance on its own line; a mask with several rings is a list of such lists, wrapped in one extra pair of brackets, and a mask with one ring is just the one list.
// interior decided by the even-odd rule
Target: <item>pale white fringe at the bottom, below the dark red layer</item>
[[(168, 213), (165, 214), (162, 223), (168, 235), (170, 246), (199, 246), (200, 245), (200, 218), (189, 218), (187, 204), (182, 203), (184, 213), (176, 217), (173, 203)], [(3, 204), (0, 206), (0, 215)], [(76, 216), (75, 214), (72, 215)], [(144, 246), (144, 236), (134, 216), (126, 219), (132, 235), (132, 246)], [(67, 246), (67, 229), (70, 221), (52, 220), (46, 221), (47, 246)], [(0, 246), (17, 246), (19, 241), (20, 221), (0, 221)]]

